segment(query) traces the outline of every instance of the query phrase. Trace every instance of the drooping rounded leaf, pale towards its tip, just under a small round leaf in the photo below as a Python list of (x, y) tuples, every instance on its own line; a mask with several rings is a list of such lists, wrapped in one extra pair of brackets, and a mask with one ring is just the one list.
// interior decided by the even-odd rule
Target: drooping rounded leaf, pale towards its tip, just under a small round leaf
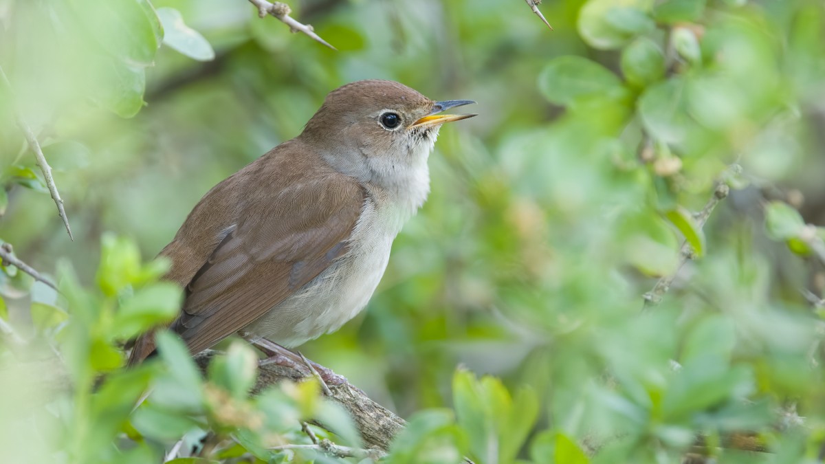
[(693, 124), (687, 114), (686, 81), (671, 78), (648, 88), (639, 97), (639, 115), (644, 128), (657, 140), (678, 144)]

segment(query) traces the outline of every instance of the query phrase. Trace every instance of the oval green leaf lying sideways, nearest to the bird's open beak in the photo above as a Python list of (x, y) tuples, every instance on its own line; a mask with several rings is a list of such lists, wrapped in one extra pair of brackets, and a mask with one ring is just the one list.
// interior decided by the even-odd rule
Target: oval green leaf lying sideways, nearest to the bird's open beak
[(557, 105), (573, 105), (587, 97), (614, 97), (624, 88), (610, 70), (579, 56), (562, 56), (544, 67), (539, 75), (539, 89)]

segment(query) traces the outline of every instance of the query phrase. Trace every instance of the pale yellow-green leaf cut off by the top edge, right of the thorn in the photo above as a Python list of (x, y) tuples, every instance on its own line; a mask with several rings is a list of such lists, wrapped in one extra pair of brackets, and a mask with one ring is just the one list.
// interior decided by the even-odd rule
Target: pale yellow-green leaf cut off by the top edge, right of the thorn
[(578, 32), (594, 48), (618, 49), (652, 30), (645, 13), (650, 5), (650, 0), (589, 0), (579, 12)]

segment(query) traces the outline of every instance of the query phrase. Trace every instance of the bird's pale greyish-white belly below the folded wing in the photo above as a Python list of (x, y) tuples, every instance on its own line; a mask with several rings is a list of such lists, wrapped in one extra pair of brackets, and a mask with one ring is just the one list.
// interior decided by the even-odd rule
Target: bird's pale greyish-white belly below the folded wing
[[(373, 210), (373, 211), (370, 211)], [(287, 348), (339, 329), (370, 301), (384, 275), (398, 230), (377, 220), (374, 208), (352, 231), (349, 251), (248, 328)]]

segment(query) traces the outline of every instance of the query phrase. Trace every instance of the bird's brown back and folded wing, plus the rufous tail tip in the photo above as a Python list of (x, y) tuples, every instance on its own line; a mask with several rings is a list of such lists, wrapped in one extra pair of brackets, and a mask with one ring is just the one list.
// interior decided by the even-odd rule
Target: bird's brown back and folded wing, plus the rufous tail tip
[[(363, 203), (355, 179), (299, 140), (220, 182), (161, 252), (172, 258), (165, 278), (186, 288), (171, 328), (198, 353), (265, 315), (346, 251)], [(144, 334), (129, 363), (153, 350)]]

